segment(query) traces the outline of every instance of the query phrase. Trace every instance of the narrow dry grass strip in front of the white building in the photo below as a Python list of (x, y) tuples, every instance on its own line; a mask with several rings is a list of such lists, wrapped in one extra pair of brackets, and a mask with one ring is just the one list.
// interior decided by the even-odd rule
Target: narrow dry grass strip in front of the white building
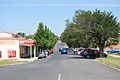
[(11, 65), (11, 64), (24, 64), (28, 61), (18, 61), (18, 60), (0, 60), (0, 65)]

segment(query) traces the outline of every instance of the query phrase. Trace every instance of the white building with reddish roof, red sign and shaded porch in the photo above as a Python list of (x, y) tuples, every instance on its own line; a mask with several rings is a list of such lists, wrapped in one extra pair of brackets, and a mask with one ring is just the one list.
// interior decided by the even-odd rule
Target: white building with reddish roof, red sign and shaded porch
[(0, 59), (20, 59), (36, 57), (36, 45), (32, 39), (18, 34), (0, 33)]

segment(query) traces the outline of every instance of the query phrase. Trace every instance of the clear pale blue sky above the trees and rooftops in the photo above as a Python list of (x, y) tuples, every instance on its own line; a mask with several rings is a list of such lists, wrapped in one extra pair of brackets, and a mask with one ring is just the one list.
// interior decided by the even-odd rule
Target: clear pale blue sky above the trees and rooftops
[(55, 35), (76, 10), (112, 12), (120, 22), (120, 0), (0, 0), (0, 32), (34, 34), (42, 22)]

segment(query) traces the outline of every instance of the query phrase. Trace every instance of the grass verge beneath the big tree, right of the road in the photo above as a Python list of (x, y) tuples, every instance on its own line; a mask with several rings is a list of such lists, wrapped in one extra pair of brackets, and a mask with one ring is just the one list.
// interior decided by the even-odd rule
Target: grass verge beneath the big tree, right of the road
[(120, 57), (109, 55), (107, 58), (97, 58), (97, 60), (120, 69)]

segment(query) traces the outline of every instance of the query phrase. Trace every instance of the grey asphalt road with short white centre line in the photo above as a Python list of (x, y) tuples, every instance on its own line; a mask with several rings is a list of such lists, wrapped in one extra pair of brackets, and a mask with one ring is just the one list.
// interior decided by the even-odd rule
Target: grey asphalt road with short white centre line
[(29, 64), (0, 66), (0, 80), (120, 80), (120, 71), (94, 59), (56, 51)]

